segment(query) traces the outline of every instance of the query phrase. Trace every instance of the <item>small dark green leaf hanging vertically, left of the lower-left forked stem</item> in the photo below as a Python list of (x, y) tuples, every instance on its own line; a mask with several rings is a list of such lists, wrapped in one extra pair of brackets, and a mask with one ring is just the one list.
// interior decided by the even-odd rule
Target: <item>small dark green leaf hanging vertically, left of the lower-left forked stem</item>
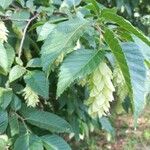
[(13, 114), (9, 117), (9, 127), (12, 137), (19, 134), (19, 122), (16, 114)]

